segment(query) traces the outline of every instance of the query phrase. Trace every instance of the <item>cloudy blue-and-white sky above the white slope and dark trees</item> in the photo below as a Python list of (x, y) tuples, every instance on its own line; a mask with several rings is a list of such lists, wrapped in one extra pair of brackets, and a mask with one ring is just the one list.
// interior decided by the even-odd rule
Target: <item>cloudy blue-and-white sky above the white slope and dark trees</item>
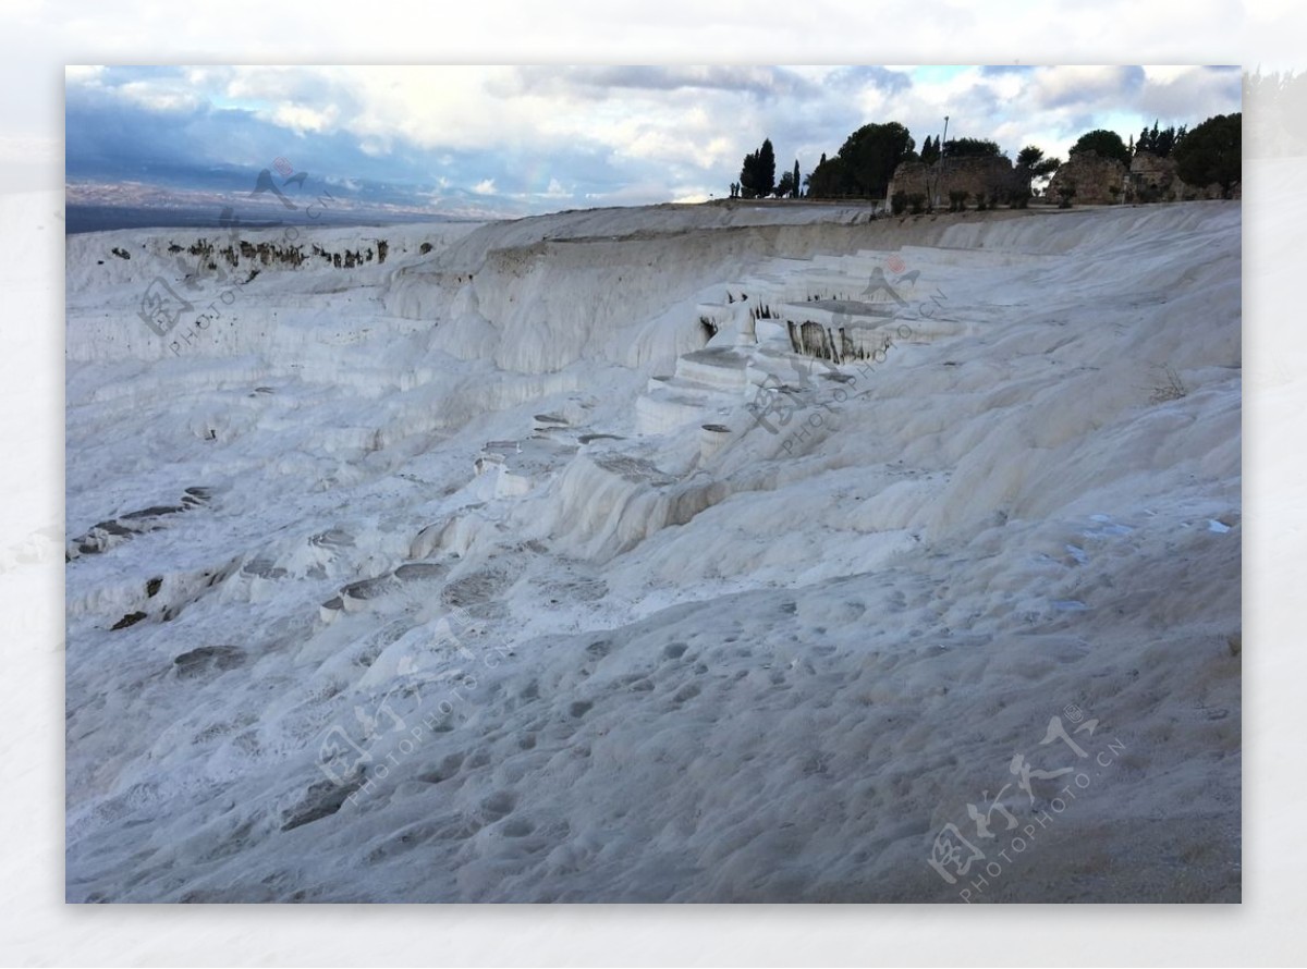
[(948, 115), (949, 137), (1065, 157), (1093, 128), (1192, 127), (1240, 98), (1238, 68), (1192, 67), (72, 67), (65, 82), (71, 199), (200, 201), (281, 159), (306, 188), (456, 215), (720, 197), (765, 137), (778, 174), (806, 174), (869, 121), (920, 145)]

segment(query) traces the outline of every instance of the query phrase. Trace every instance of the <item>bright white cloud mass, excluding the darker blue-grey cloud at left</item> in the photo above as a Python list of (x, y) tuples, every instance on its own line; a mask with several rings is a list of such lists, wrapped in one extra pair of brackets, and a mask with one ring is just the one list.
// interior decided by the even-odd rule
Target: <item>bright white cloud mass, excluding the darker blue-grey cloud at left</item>
[(904, 124), (920, 146), (948, 115), (949, 137), (1064, 155), (1093, 127), (1128, 137), (1154, 116), (1192, 125), (1238, 110), (1236, 74), (1187, 67), (80, 68), (68, 85), (154, 111), (246, 110), (297, 137), (346, 136), (335, 144), (353, 154), (332, 148), (324, 170), (336, 155), (341, 174), (393, 158), (427, 185), (537, 201), (724, 191), (763, 137), (778, 168), (797, 158), (808, 174), (873, 121)]

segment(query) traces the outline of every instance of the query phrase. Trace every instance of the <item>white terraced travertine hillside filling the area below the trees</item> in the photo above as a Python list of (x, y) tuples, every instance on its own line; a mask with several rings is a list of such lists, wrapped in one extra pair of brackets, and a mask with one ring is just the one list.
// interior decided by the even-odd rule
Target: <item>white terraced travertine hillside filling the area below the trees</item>
[(195, 235), (68, 243), (69, 900), (1239, 897), (1236, 204)]

